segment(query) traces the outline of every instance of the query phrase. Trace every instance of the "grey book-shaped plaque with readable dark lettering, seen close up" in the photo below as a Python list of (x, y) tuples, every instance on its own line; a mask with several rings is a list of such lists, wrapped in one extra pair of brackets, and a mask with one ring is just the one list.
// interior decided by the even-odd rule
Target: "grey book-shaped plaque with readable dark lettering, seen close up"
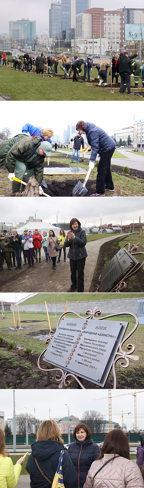
[(65, 317), (43, 361), (103, 387), (127, 325), (123, 321)]

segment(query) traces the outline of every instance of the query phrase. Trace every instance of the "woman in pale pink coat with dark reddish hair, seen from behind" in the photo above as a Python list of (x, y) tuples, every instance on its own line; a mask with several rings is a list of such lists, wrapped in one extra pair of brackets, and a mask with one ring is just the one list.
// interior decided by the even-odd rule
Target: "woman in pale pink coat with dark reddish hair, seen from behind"
[(83, 488), (144, 488), (140, 468), (130, 460), (126, 434), (110, 430), (103, 442), (101, 455), (95, 461)]

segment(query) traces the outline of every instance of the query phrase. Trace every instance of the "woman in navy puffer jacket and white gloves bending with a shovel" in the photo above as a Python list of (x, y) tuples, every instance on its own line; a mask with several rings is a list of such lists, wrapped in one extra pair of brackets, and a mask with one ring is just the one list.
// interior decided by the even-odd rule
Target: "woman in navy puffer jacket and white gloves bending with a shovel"
[(110, 171), (112, 155), (115, 151), (116, 142), (106, 134), (106, 132), (94, 123), (79, 121), (76, 130), (81, 134), (86, 134), (87, 142), (91, 146), (92, 152), (89, 161), (89, 168), (93, 169), (94, 161), (99, 153), (100, 161), (96, 181), (96, 193), (91, 197), (104, 197), (105, 190), (114, 191), (114, 184)]

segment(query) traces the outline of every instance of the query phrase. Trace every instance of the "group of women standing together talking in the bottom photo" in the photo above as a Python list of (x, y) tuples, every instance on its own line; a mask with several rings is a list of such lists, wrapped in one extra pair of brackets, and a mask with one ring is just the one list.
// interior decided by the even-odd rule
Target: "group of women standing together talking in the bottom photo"
[[(67, 451), (58, 424), (51, 419), (41, 423), (26, 464), (31, 488), (50, 488), (56, 471), (61, 472), (58, 486), (64, 485), (64, 488), (144, 488), (144, 468), (139, 467), (138, 459), (137, 463), (130, 460), (123, 430), (116, 428), (108, 432), (101, 452), (85, 424), (75, 427), (73, 438), (75, 442)], [(0, 488), (17, 485), (24, 460), (25, 456), (13, 466), (5, 449), (4, 432), (0, 429)]]

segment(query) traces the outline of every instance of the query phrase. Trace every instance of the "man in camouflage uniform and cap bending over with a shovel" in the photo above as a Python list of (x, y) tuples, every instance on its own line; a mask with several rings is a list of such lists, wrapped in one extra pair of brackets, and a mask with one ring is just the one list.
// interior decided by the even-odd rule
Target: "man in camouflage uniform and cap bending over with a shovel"
[[(41, 137), (18, 134), (0, 144), (0, 166), (4, 164), (9, 173), (15, 172), (15, 177), (25, 183), (34, 175), (37, 182), (41, 185), (44, 158), (45, 155), (51, 155), (51, 149), (50, 142), (43, 142)], [(27, 176), (25, 177), (26, 168)], [(13, 181), (12, 193), (19, 192), (20, 186), (21, 183)]]

